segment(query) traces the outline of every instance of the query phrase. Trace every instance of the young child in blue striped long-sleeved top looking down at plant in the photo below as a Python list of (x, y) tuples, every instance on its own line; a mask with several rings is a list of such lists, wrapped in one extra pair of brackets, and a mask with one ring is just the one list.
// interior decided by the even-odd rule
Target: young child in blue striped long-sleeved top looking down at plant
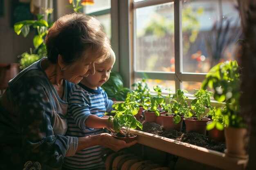
[[(68, 129), (66, 135), (84, 137), (106, 132), (103, 128), (112, 128), (108, 118), (102, 118), (110, 112), (113, 101), (108, 99), (100, 87), (108, 81), (115, 63), (115, 53), (111, 51), (103, 63), (95, 64), (95, 74), (84, 77), (71, 91), (68, 106)], [(101, 146), (93, 146), (79, 152), (74, 157), (65, 157), (63, 170), (105, 169)]]

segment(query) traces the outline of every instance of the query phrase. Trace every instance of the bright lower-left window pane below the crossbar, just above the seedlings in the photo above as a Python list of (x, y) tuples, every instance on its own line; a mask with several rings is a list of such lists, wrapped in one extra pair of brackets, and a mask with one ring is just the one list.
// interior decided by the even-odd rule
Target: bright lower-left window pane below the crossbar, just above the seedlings
[[(141, 81), (141, 78), (136, 78), (135, 82)], [(148, 84), (148, 87), (150, 91), (154, 91), (153, 87), (154, 86), (160, 86), (162, 89), (162, 93), (168, 93), (168, 91), (164, 90), (165, 88), (170, 88), (171, 92), (175, 92), (175, 82), (174, 81), (169, 81), (169, 80), (162, 80), (162, 79), (146, 79), (146, 83)]]

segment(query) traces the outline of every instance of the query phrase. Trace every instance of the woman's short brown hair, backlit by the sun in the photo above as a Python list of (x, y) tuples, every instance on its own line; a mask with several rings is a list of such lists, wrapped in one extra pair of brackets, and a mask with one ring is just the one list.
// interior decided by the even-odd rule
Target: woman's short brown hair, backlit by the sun
[(59, 18), (45, 39), (48, 59), (52, 63), (62, 55), (65, 64), (92, 52), (98, 62), (109, 56), (110, 42), (100, 22), (92, 16), (72, 13)]

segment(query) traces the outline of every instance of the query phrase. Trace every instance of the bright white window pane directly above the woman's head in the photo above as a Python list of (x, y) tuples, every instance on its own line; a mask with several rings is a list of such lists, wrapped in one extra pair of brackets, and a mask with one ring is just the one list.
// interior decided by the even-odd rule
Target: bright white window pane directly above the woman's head
[(85, 13), (92, 13), (96, 11), (101, 11), (104, 9), (110, 9), (111, 1), (110, 0), (94, 0), (93, 5), (84, 6)]

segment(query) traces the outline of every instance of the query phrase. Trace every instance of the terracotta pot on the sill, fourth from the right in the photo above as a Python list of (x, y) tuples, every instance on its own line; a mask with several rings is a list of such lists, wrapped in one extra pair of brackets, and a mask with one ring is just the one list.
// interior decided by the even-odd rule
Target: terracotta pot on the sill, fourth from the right
[(181, 121), (178, 124), (173, 122), (173, 115), (166, 116), (166, 114), (162, 114), (160, 117), (162, 117), (162, 125), (164, 126), (165, 130), (175, 129), (177, 131), (181, 131), (182, 121), (184, 118), (183, 116), (181, 116)]

